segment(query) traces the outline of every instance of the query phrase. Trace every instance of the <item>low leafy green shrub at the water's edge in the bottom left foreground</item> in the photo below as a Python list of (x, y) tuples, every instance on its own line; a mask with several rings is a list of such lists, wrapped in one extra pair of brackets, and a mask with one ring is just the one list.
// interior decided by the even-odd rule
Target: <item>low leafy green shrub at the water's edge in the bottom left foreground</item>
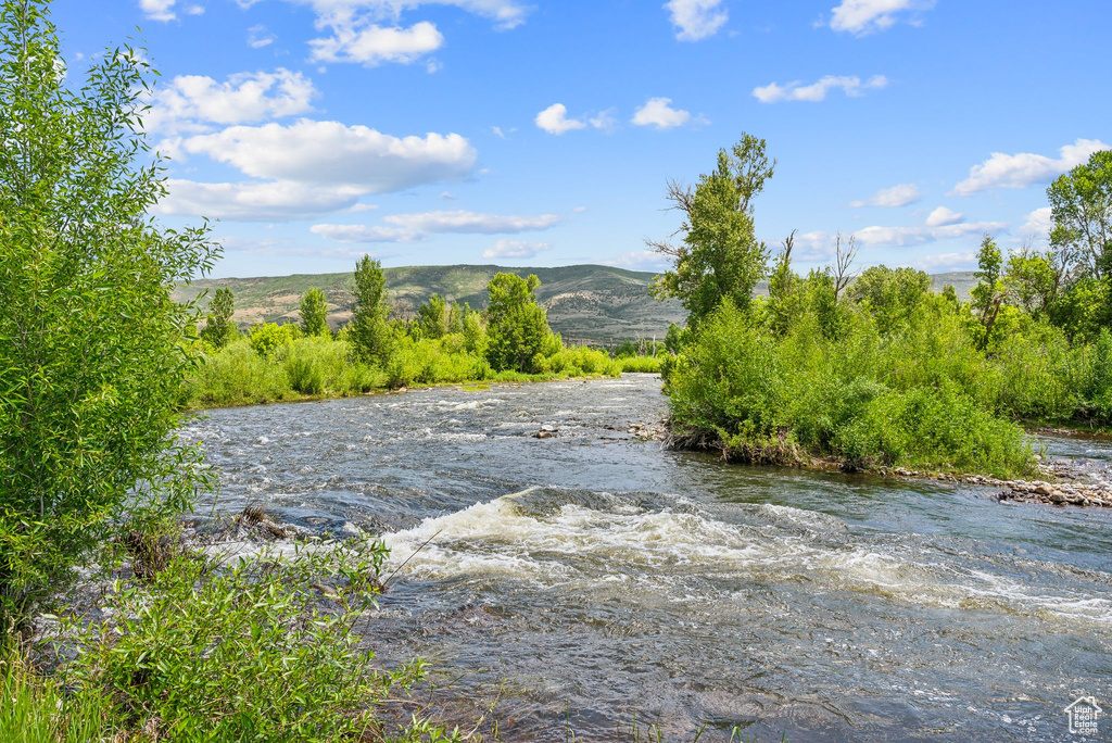
[(346, 741), (421, 675), (374, 670), (356, 620), (375, 604), (386, 549), (302, 545), (222, 566), (180, 558), (142, 590), (117, 584), (115, 618), (81, 630), (68, 682), (117, 700), (132, 730), (180, 741)]

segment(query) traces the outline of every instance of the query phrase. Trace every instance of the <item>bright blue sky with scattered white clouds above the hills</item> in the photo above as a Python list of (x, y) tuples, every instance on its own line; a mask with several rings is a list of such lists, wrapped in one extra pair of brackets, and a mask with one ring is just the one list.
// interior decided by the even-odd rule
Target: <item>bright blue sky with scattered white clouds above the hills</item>
[[(1043, 238), (1045, 186), (1112, 146), (1106, 0), (56, 0), (72, 73), (138, 39), (171, 226), (216, 276), (605, 262), (658, 270), (746, 131), (758, 236), (801, 269), (966, 269)], [(141, 31), (137, 31), (137, 27)]]

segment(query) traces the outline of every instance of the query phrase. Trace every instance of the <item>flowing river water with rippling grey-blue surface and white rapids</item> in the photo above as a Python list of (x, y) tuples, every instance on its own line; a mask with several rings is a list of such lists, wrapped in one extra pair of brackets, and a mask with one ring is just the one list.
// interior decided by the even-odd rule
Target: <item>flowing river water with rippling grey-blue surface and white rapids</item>
[[(1112, 704), (1108, 513), (625, 433), (665, 407), (627, 375), (222, 409), (192, 432), (222, 509), (381, 535), (391, 566), (430, 539), (371, 642), (451, 693), (502, 686), (506, 740), (565, 740), (566, 720), (614, 740), (636, 715), (679, 740), (1058, 741), (1076, 696)], [(1045, 444), (1112, 463), (1108, 442)]]

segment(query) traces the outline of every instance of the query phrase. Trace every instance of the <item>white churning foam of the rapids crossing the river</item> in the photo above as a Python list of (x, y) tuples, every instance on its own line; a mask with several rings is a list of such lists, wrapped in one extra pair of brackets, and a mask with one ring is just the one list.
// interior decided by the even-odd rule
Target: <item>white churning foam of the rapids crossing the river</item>
[[(1112, 626), (1112, 601), (1106, 598), (1027, 586), (939, 562), (937, 555), (921, 562), (914, 548), (868, 544), (825, 514), (763, 504), (752, 507), (752, 523), (733, 524), (683, 498), (649, 508), (596, 494), (602, 507), (565, 502), (537, 509), (527, 503), (537, 494), (538, 488), (529, 488), (388, 534), (391, 561), (400, 564), (413, 555), (406, 571), (421, 579), (502, 576), (542, 590), (572, 582), (579, 590), (606, 588), (623, 577), (631, 591), (658, 594), (662, 586), (683, 587), (665, 592), (677, 601), (698, 577), (805, 582), (816, 592)], [(703, 592), (694, 598), (714, 602), (731, 595), (705, 581)]]

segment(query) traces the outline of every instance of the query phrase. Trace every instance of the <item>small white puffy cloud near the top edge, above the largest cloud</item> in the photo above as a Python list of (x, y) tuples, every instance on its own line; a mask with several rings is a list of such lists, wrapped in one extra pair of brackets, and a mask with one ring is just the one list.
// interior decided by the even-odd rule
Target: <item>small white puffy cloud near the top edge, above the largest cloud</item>
[(312, 39), (311, 58), (320, 62), (360, 62), (375, 67), (383, 62), (408, 65), (444, 44), (444, 36), (428, 21), (400, 26), (341, 26), (327, 39)]

